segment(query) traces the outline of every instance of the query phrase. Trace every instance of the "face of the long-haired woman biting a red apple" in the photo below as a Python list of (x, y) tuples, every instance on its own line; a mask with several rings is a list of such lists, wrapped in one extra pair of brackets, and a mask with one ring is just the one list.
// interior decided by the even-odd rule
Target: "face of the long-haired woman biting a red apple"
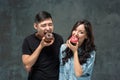
[(84, 24), (79, 25), (76, 27), (75, 30), (72, 31), (72, 35), (78, 37), (78, 44), (81, 45), (85, 39), (87, 39), (86, 30)]

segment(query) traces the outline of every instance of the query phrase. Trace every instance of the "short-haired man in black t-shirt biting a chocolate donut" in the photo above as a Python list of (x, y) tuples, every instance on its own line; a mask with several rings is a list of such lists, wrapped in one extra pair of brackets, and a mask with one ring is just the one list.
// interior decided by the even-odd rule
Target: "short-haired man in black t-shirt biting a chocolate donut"
[[(35, 16), (35, 33), (26, 37), (22, 46), (22, 61), (29, 72), (28, 80), (58, 80), (59, 49), (63, 43), (60, 35), (53, 32), (51, 14), (42, 11)], [(54, 39), (45, 42), (46, 32), (52, 32)]]

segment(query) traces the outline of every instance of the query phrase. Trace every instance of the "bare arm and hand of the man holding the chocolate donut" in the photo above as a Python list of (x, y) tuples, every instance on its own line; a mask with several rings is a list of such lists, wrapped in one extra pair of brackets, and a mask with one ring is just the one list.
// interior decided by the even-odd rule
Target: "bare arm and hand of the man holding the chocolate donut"
[(54, 40), (52, 40), (50, 43), (46, 43), (44, 41), (44, 38), (42, 39), (41, 43), (39, 44), (39, 46), (36, 48), (36, 50), (31, 54), (31, 55), (27, 55), (27, 54), (23, 54), (22, 55), (22, 61), (23, 64), (25, 66), (25, 69), (29, 72), (31, 70), (31, 67), (35, 64), (35, 62), (38, 59), (38, 56), (40, 55), (42, 49), (45, 46), (50, 46), (52, 45), (52, 43), (54, 42)]

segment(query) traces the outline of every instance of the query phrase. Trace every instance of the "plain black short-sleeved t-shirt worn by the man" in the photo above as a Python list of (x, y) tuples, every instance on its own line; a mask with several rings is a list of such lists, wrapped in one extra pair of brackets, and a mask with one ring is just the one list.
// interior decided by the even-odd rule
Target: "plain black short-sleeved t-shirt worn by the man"
[[(59, 51), (63, 43), (60, 35), (53, 33), (55, 41), (52, 45), (44, 47), (29, 72), (28, 80), (58, 80), (59, 76)], [(31, 55), (40, 44), (35, 34), (24, 39), (22, 52)]]

